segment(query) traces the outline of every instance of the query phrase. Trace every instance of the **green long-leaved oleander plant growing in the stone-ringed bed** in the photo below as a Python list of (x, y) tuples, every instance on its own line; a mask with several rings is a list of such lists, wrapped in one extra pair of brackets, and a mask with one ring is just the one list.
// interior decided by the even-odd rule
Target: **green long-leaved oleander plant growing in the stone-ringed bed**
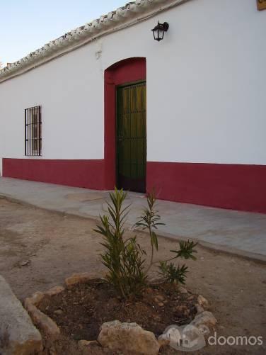
[(115, 188), (110, 193), (108, 202), (108, 215), (100, 215), (100, 224), (97, 225), (96, 232), (103, 236), (103, 254), (100, 255), (102, 263), (108, 269), (105, 281), (108, 282), (118, 295), (128, 298), (138, 295), (149, 284), (149, 271), (152, 266), (158, 266), (158, 276), (161, 282), (185, 283), (187, 278), (187, 266), (175, 265), (175, 259), (196, 260), (195, 247), (197, 243), (179, 242), (178, 249), (170, 250), (173, 257), (168, 260), (156, 261), (158, 252), (158, 230), (161, 216), (156, 210), (156, 193), (152, 191), (147, 194), (147, 206), (143, 213), (137, 218), (134, 227), (146, 230), (149, 234), (151, 245), (151, 256), (147, 259), (147, 254), (137, 242), (137, 237), (127, 237), (125, 235), (125, 222), (129, 213), (129, 206), (124, 206), (127, 193), (122, 189)]

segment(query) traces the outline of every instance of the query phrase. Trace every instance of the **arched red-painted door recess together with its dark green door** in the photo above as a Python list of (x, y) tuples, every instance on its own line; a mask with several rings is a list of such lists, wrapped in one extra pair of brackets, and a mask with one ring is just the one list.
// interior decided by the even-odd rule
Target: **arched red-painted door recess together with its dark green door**
[(146, 191), (146, 60), (105, 70), (105, 186)]

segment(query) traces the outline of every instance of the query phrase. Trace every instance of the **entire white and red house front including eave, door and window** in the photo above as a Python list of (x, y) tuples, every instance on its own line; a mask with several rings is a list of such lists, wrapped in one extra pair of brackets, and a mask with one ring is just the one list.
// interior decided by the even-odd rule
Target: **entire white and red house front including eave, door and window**
[(265, 33), (256, 0), (137, 0), (48, 43), (0, 72), (1, 174), (266, 213)]

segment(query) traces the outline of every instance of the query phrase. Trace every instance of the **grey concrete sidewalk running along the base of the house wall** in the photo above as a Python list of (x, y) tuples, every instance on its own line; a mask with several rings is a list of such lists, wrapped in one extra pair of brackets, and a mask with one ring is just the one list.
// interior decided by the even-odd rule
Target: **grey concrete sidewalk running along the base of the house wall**
[[(106, 211), (108, 191), (1, 177), (0, 196), (47, 210), (98, 218)], [(128, 193), (127, 203), (131, 204), (128, 222), (132, 226), (146, 198), (141, 193)], [(160, 227), (160, 235), (190, 238), (205, 247), (266, 261), (266, 215), (170, 201), (158, 201), (157, 209), (166, 223)]]

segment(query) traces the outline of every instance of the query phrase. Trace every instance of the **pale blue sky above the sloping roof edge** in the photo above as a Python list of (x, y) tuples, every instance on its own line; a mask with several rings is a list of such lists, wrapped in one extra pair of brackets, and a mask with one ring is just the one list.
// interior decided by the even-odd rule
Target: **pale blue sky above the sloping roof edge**
[(0, 62), (16, 62), (126, 0), (0, 0)]

